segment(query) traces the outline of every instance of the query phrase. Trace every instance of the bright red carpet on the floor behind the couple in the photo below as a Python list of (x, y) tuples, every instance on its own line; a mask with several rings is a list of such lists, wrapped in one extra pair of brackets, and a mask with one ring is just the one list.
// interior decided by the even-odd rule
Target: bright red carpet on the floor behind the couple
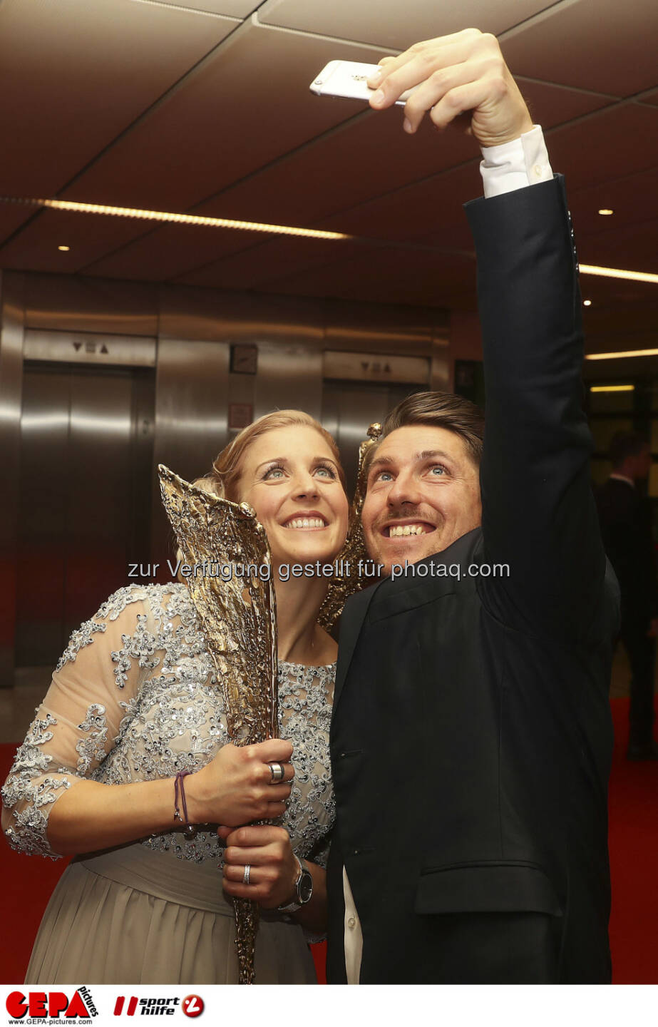
[[(613, 904), (610, 937), (615, 984), (658, 984), (658, 762), (627, 763), (628, 699), (612, 700), (615, 753), (610, 782), (610, 859)], [(0, 746), (0, 779), (14, 752)], [(5, 942), (2, 983), (25, 977), (41, 914), (64, 860), (24, 857), (0, 845)], [(324, 945), (313, 946), (324, 982)]]

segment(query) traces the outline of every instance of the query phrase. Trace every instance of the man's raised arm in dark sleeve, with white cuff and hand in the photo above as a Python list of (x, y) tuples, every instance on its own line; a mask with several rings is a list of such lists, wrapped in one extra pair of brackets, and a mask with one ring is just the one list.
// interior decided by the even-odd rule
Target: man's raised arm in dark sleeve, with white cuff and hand
[(478, 265), (486, 380), (480, 468), (482, 580), (499, 619), (583, 640), (603, 596), (605, 556), (589, 487), (581, 408), (581, 300), (564, 181), (494, 36), (477, 30), (417, 43), (369, 80), (376, 109), (405, 89), (404, 128), (468, 118), (488, 198), (467, 204)]

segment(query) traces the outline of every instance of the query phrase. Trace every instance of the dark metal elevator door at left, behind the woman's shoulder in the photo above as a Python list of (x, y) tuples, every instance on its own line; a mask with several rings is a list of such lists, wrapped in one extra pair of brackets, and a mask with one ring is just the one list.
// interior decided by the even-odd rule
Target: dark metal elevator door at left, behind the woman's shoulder
[(16, 667), (53, 663), (148, 561), (153, 396), (150, 370), (26, 364)]

